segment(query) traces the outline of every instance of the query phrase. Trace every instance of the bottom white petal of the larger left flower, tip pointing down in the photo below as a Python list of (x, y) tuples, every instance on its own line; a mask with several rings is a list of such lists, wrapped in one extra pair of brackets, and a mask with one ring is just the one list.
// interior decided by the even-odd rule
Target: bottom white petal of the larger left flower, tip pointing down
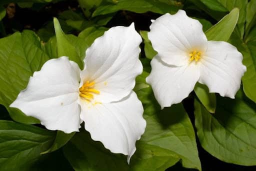
[(120, 101), (90, 105), (81, 102), (81, 119), (93, 140), (103, 143), (113, 153), (130, 156), (135, 152), (135, 142), (143, 134), (146, 122), (143, 106), (132, 91)]

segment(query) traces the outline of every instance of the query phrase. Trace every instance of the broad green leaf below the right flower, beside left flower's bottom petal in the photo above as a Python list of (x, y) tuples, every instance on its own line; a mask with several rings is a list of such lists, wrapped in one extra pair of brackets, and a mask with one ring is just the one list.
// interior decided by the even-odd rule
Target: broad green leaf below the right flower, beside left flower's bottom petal
[[(144, 74), (144, 77), (146, 76)], [(147, 123), (145, 133), (139, 143), (146, 143), (155, 148), (160, 147), (169, 155), (177, 155), (184, 167), (200, 170), (201, 165), (193, 126), (182, 104), (174, 104), (171, 107), (165, 107), (160, 110), (160, 106), (155, 100), (150, 87), (143, 88), (136, 91), (136, 93), (143, 103), (143, 116)], [(153, 162), (153, 160), (148, 160), (148, 162)], [(164, 160), (158, 164), (163, 164), (163, 162)]]

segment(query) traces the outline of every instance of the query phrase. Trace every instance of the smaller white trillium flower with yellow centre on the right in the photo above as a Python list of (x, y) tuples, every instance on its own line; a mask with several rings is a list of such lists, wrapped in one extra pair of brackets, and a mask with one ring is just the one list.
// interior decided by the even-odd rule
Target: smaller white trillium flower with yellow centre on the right
[(227, 42), (207, 41), (201, 23), (184, 10), (155, 19), (148, 38), (158, 53), (146, 81), (161, 108), (181, 102), (197, 81), (234, 98), (246, 71), (242, 54)]

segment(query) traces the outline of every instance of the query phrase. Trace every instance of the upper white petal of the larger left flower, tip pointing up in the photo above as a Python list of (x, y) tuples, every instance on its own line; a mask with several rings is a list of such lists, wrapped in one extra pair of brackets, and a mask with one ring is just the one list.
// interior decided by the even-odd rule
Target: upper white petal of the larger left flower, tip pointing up
[(138, 59), (141, 41), (132, 23), (110, 28), (86, 50), (81, 79), (95, 81), (94, 88), (100, 91), (96, 100), (117, 101), (130, 93), (135, 77), (142, 72)]

